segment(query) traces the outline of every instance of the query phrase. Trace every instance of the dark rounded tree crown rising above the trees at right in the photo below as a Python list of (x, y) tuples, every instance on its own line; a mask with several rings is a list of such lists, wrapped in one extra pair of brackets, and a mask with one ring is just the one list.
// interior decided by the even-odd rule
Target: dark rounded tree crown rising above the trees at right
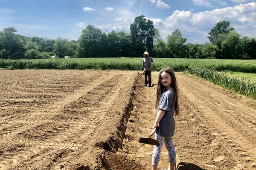
[(210, 40), (210, 42), (212, 42), (212, 44), (215, 45), (216, 41), (218, 40), (218, 34), (228, 34), (232, 30), (235, 30), (235, 28), (230, 27), (229, 21), (219, 21), (208, 33), (209, 36), (207, 38)]

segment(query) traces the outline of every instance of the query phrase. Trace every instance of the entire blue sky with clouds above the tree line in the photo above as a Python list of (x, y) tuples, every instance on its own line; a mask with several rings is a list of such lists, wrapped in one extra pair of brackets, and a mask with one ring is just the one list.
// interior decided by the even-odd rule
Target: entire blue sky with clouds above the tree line
[(88, 25), (109, 33), (125, 31), (144, 15), (166, 37), (179, 29), (189, 43), (209, 42), (208, 32), (222, 20), (256, 37), (256, 0), (0, 0), (0, 31), (77, 40)]

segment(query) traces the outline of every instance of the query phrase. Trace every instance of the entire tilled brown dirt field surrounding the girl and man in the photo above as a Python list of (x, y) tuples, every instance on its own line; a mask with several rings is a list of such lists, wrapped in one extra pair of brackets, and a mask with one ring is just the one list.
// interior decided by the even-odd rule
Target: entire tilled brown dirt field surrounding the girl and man
[[(157, 72), (152, 73), (155, 83)], [(150, 170), (155, 86), (136, 71), (0, 70), (0, 170)], [(177, 73), (178, 170), (256, 169), (256, 101)], [(160, 168), (168, 167), (163, 148)]]

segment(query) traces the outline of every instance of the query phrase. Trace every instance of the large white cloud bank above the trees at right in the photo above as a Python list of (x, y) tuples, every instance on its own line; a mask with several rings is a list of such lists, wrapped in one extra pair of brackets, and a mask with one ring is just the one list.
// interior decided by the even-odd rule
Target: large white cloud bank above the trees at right
[[(256, 31), (253, 31), (256, 30), (256, 3), (199, 13), (176, 10), (162, 22), (154, 22), (154, 26), (159, 29), (163, 40), (166, 40), (166, 37), (178, 28), (188, 42), (200, 43), (209, 42), (208, 32), (216, 23), (223, 20), (229, 21), (230, 26), (242, 36), (256, 37)], [(201, 40), (198, 40), (198, 37)]]

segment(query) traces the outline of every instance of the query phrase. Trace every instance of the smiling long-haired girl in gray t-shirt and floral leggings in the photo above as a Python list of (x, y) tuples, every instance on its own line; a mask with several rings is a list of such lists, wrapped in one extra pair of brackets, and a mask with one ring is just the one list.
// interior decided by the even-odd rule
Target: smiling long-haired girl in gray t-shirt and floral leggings
[(175, 131), (175, 120), (173, 115), (180, 115), (178, 100), (178, 84), (174, 71), (170, 67), (160, 70), (157, 81), (157, 117), (153, 129), (157, 128), (155, 139), (159, 140), (160, 146), (154, 146), (152, 155), (152, 170), (157, 170), (160, 159), (160, 152), (163, 142), (169, 153), (169, 167), (167, 170), (176, 169), (176, 151), (172, 142), (172, 136)]

